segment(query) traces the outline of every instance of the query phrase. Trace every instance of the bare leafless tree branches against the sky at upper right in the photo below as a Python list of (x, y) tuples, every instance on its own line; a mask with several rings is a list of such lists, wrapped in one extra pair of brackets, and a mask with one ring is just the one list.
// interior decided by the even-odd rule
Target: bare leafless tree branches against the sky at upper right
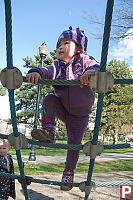
[[(83, 18), (93, 26), (90, 30), (92, 37), (102, 39), (101, 27), (104, 26), (104, 16), (93, 16), (84, 12)], [(130, 38), (133, 35), (133, 1), (132, 0), (117, 0), (113, 8), (112, 27), (110, 39)]]

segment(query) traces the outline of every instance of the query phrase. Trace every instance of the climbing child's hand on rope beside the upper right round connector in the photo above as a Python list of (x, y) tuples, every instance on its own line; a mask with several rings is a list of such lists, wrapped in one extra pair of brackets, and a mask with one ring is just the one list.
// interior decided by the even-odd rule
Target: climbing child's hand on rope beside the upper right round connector
[[(94, 73), (92, 70), (86, 71), (82, 76), (80, 76), (80, 82), (84, 85), (89, 85), (90, 77)], [(84, 87), (84, 85), (80, 85), (81, 88)]]

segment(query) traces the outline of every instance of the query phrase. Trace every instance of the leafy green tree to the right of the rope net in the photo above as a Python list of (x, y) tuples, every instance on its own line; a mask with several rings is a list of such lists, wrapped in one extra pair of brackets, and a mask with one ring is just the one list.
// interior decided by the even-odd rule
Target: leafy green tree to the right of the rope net
[[(114, 78), (132, 78), (128, 65), (125, 62), (112, 60), (107, 70)], [(133, 124), (133, 86), (114, 85), (113, 89), (104, 96), (103, 113), (101, 120), (101, 131), (105, 135), (121, 133), (124, 125)]]

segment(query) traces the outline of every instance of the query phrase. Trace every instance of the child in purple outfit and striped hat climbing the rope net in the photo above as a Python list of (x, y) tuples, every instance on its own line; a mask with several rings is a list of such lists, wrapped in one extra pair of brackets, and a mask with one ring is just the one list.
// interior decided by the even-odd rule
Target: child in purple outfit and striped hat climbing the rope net
[[(32, 137), (41, 142), (54, 142), (55, 117), (62, 120), (67, 129), (68, 144), (81, 144), (86, 131), (89, 114), (94, 103), (94, 92), (89, 88), (91, 73), (99, 69), (99, 64), (86, 55), (87, 37), (79, 28), (64, 31), (57, 42), (55, 60), (48, 67), (36, 67), (26, 75), (28, 82), (37, 84), (38, 79), (80, 79), (81, 86), (53, 86), (55, 94), (43, 100), (42, 130), (34, 129)], [(82, 84), (85, 84), (83, 86)], [(68, 150), (61, 189), (73, 187), (74, 169), (79, 158), (79, 150)]]

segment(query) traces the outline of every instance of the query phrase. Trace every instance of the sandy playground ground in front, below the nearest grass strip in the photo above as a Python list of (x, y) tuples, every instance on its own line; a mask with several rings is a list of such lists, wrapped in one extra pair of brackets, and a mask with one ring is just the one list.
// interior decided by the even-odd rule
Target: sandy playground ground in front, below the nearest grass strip
[[(33, 175), (34, 178), (60, 181), (62, 174), (49, 175)], [(86, 180), (86, 174), (75, 174), (75, 182)], [(92, 180), (96, 183), (116, 182), (133, 179), (133, 172), (112, 172), (112, 173), (97, 173), (93, 174)], [(78, 187), (74, 187), (71, 191), (62, 191), (59, 186), (44, 185), (39, 183), (31, 183), (28, 186), (28, 194), (30, 200), (84, 200), (84, 192), (81, 192)], [(119, 200), (120, 191), (117, 187), (97, 187), (94, 192), (91, 192), (91, 200)], [(9, 198), (11, 200), (12, 198)], [(16, 180), (16, 200), (25, 200), (21, 185)]]

